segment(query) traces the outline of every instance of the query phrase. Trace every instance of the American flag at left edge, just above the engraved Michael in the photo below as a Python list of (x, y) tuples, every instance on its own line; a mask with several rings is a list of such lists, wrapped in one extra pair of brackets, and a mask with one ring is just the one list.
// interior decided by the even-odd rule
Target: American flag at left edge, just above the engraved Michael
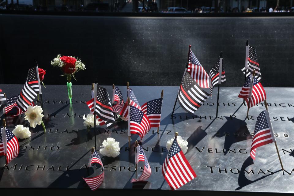
[[(5, 142), (6, 140), (6, 142)], [(6, 156), (6, 164), (9, 164), (19, 153), (17, 137), (6, 128), (1, 127), (0, 132), (0, 156)]]

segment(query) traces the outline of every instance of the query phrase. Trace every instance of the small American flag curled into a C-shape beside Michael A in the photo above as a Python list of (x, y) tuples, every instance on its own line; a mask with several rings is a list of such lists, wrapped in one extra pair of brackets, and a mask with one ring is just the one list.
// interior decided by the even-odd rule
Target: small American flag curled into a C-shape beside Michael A
[(83, 178), (85, 180), (85, 182), (88, 184), (88, 186), (90, 187), (91, 190), (96, 190), (100, 187), (100, 185), (102, 184), (103, 180), (104, 180), (104, 167), (103, 167), (103, 163), (100, 159), (99, 154), (97, 153), (97, 151), (95, 151), (92, 155), (91, 155), (91, 162), (90, 164), (93, 163), (98, 163), (102, 166), (102, 174), (97, 175), (96, 177), (92, 177), (92, 178)]

